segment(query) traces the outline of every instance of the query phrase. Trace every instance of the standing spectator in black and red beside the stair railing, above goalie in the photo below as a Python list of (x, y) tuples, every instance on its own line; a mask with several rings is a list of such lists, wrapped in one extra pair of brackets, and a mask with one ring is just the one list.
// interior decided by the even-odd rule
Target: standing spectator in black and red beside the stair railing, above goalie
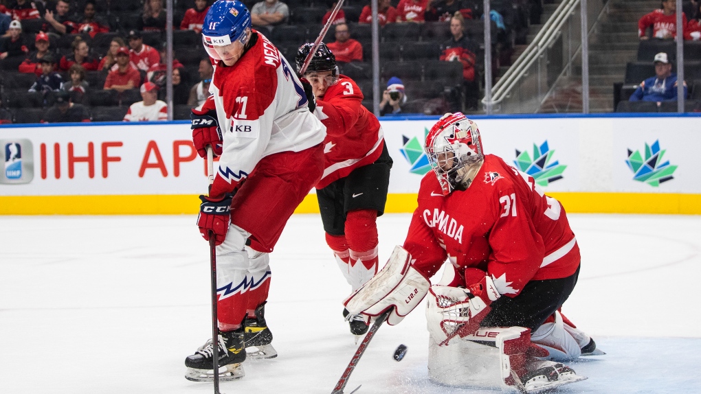
[(448, 41), (443, 43), (440, 59), (446, 62), (461, 62), (463, 64), (463, 87), (465, 102), (468, 108), (477, 108), (479, 98), (479, 83), (477, 77), (477, 49), (479, 45), (465, 35), (465, 18), (456, 11), (450, 18), (450, 33)]

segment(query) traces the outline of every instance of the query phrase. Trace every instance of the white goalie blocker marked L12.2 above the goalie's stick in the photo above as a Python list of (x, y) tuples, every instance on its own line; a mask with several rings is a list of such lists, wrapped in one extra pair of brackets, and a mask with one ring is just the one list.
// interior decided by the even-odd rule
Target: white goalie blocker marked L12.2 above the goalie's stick
[(387, 323), (396, 325), (426, 297), (431, 283), (411, 265), (411, 255), (395, 246), (387, 264), (343, 305), (351, 314), (370, 318), (391, 310)]

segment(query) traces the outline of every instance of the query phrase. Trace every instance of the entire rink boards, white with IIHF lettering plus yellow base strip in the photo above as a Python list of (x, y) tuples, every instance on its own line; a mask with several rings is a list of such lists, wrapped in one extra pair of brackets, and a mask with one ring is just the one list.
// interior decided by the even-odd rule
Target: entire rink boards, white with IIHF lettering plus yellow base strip
[[(382, 119), (387, 212), (411, 212), (436, 118)], [(701, 213), (694, 115), (475, 117), (484, 149), (570, 212)], [(189, 122), (0, 127), (0, 214), (195, 213), (207, 190)], [(480, 181), (480, 180), (477, 180)], [(297, 209), (318, 212), (313, 192)]]

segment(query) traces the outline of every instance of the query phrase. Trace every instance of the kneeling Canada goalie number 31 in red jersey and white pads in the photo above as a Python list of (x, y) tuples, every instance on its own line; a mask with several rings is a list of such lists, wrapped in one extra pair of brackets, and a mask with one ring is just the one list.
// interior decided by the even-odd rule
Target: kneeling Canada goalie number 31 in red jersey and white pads
[(580, 269), (562, 205), (484, 155), (462, 113), (444, 115), (425, 149), (433, 172), (421, 181), (404, 246), (346, 309), (368, 322), (390, 311), (395, 325), (426, 298), (428, 375), (440, 384), (536, 393), (586, 379), (564, 362), (604, 353), (560, 313)]

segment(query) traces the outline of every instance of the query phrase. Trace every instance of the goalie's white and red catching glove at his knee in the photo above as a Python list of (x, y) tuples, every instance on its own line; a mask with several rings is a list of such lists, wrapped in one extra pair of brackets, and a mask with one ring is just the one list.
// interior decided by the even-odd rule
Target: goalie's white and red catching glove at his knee
[(494, 282), (481, 269), (465, 269), (465, 283), (473, 284), (468, 288), (437, 285), (430, 288), (426, 321), (439, 344), (447, 344), (456, 335), (475, 334), (479, 323), (491, 311), (489, 305), (501, 297)]

